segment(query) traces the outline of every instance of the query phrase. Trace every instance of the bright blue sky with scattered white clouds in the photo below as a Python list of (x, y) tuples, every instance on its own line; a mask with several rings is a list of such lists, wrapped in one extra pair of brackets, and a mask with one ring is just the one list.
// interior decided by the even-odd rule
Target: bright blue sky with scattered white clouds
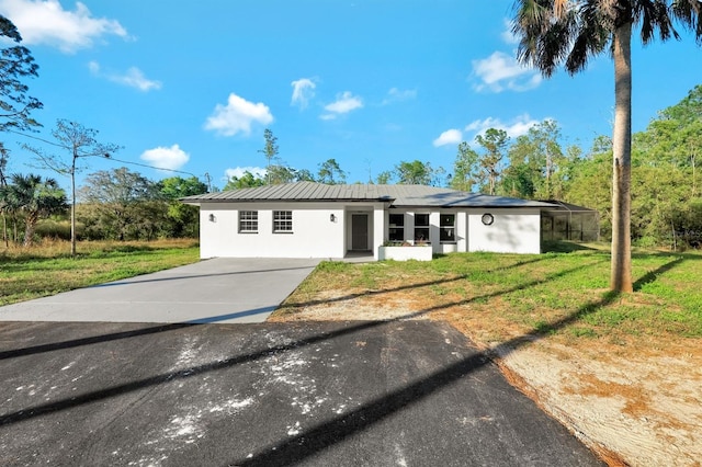
[[(565, 144), (589, 148), (611, 133), (609, 56), (542, 79), (514, 61), (512, 4), (0, 0), (0, 14), (39, 65), (26, 81), (44, 103), (34, 136), (50, 139), (57, 118), (76, 121), (123, 146), (115, 158), (149, 179), (208, 173), (222, 187), (265, 167), (267, 127), (285, 163), (316, 173), (333, 158), (349, 182), (403, 160), (451, 172), (461, 140), (487, 127), (516, 137), (544, 118), (558, 122)], [(702, 48), (681, 32), (681, 42), (634, 46), (634, 132), (702, 82)], [(41, 141), (2, 138), (10, 171), (36, 171), (20, 145)], [(122, 166), (89, 162), (82, 175)]]

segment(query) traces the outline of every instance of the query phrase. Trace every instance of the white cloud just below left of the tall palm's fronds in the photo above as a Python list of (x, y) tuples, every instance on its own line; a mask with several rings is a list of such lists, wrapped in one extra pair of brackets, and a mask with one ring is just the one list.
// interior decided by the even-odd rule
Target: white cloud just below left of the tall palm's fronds
[(482, 81), (475, 86), (478, 91), (502, 92), (528, 91), (541, 83), (537, 71), (521, 66), (517, 59), (502, 52), (495, 52), (488, 58), (473, 60), (473, 73)]

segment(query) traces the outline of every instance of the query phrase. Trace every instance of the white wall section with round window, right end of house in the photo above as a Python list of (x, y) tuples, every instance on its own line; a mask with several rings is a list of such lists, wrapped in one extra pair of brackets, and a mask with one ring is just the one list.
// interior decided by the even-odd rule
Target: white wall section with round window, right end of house
[[(482, 221), (484, 214), (495, 218), (490, 226)], [(539, 209), (468, 210), (468, 251), (497, 253), (541, 253), (541, 213)]]

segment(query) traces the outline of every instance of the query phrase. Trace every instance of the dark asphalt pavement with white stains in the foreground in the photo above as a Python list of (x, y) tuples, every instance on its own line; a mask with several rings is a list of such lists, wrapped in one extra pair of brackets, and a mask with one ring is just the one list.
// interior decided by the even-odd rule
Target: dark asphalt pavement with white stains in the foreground
[(446, 323), (0, 323), (0, 465), (602, 466)]

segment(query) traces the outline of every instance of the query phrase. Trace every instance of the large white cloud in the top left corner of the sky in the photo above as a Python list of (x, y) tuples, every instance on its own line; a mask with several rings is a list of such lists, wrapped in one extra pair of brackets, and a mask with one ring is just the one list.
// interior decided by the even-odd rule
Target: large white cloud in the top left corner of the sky
[(23, 44), (44, 44), (67, 54), (91, 47), (106, 35), (128, 37), (118, 21), (93, 18), (81, 2), (76, 2), (75, 11), (68, 11), (58, 0), (0, 0), (0, 14), (18, 26)]

